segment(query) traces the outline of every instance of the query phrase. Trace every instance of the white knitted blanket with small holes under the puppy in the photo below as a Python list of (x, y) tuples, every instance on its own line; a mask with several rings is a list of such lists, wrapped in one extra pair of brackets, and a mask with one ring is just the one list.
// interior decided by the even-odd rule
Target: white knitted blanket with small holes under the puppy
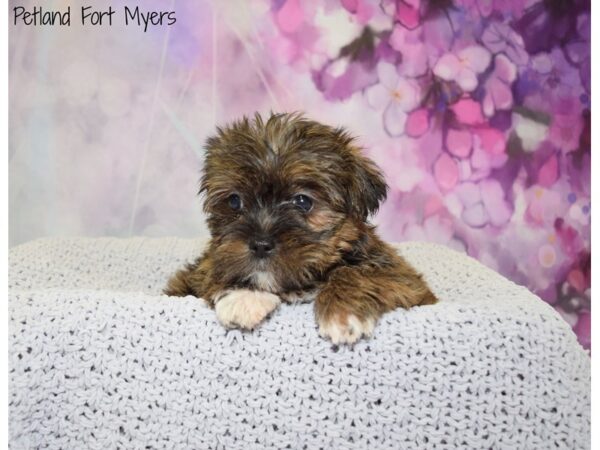
[(475, 260), (401, 244), (441, 302), (338, 348), (310, 304), (240, 332), (161, 295), (201, 246), (11, 250), (11, 448), (589, 448), (588, 355), (549, 305)]

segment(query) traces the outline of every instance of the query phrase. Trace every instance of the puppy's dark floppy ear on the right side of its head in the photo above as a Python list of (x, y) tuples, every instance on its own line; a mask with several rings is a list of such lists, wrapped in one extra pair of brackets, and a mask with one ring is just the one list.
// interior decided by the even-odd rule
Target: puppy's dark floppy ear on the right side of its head
[(360, 154), (358, 149), (352, 151), (352, 172), (349, 188), (350, 208), (363, 221), (369, 214), (375, 214), (379, 204), (387, 196), (387, 184), (379, 168), (373, 161)]

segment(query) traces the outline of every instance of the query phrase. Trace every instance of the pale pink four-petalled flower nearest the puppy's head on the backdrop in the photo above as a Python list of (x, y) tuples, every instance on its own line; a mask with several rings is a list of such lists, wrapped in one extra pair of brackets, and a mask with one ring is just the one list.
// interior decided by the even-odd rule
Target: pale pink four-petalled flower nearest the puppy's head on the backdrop
[(396, 66), (386, 62), (377, 65), (379, 83), (367, 92), (369, 104), (383, 112), (383, 125), (390, 136), (404, 133), (408, 113), (421, 101), (419, 86), (414, 80), (401, 77)]

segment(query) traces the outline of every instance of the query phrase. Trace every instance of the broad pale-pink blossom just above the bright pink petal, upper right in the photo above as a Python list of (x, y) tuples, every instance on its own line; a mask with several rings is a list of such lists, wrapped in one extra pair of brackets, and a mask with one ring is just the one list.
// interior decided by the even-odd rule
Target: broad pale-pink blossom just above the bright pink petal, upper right
[(464, 48), (459, 52), (446, 53), (433, 68), (433, 73), (446, 81), (455, 81), (465, 92), (477, 87), (477, 75), (490, 65), (490, 52), (480, 45)]

